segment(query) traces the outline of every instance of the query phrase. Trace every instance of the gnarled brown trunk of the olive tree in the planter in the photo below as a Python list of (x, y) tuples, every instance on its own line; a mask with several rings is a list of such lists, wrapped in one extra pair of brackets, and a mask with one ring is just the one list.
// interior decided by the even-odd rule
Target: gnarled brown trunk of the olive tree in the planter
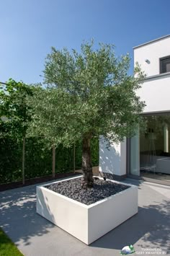
[(93, 172), (91, 164), (90, 136), (84, 136), (82, 149), (82, 171), (84, 177), (81, 180), (83, 188), (93, 187)]

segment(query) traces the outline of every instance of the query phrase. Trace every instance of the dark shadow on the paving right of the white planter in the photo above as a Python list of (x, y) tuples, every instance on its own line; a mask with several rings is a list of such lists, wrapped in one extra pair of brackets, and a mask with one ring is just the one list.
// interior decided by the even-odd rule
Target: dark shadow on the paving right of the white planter
[[(125, 221), (104, 237), (93, 242), (91, 247), (117, 249), (135, 244), (140, 240), (140, 248), (161, 248), (170, 252), (170, 202), (164, 200), (159, 205), (138, 207), (138, 214)], [(148, 245), (147, 245), (148, 243)]]

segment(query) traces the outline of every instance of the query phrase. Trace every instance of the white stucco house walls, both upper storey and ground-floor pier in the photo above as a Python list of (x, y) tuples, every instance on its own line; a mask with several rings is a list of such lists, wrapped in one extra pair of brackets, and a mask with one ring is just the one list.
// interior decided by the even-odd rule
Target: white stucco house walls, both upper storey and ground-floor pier
[[(146, 74), (142, 87), (136, 92), (146, 102), (144, 113), (170, 112), (170, 72), (160, 74), (160, 58), (170, 56), (170, 35), (134, 48), (134, 63), (138, 62)], [(127, 173), (126, 140), (106, 149), (100, 140), (99, 170), (112, 175)]]

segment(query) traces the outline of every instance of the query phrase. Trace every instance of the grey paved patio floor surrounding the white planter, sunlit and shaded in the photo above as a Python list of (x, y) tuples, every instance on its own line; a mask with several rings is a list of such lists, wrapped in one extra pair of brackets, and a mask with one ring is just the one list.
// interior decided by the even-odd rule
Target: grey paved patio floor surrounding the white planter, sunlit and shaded
[(0, 226), (26, 256), (117, 256), (129, 244), (133, 255), (170, 255), (170, 187), (125, 182), (138, 185), (138, 214), (89, 246), (36, 213), (35, 185), (0, 193)]

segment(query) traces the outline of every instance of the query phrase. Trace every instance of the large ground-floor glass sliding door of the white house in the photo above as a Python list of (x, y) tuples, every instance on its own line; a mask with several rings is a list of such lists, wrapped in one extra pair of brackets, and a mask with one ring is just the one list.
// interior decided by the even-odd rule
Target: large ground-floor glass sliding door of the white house
[(170, 115), (147, 115), (130, 138), (130, 174), (170, 184)]

